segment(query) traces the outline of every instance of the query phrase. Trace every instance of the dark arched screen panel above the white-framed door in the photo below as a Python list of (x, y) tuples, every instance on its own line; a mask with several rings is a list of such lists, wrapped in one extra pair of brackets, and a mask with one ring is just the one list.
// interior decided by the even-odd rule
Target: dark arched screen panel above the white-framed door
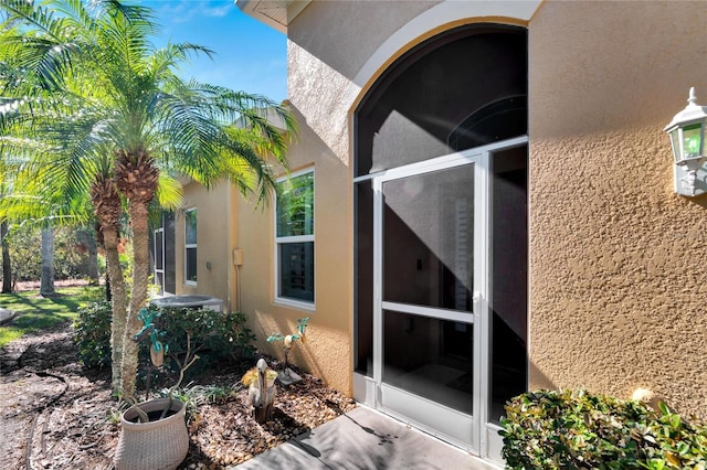
[(524, 28), (481, 23), (410, 50), (356, 110), (355, 174), (525, 135), (527, 56)]

